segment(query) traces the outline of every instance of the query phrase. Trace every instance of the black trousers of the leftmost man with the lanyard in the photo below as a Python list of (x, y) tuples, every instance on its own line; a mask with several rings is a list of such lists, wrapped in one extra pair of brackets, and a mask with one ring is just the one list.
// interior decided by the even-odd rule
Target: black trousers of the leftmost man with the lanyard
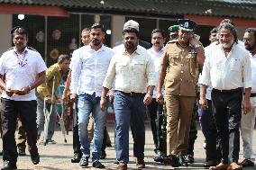
[[(37, 125), (36, 125), (36, 101), (13, 101), (1, 99), (2, 111), (2, 129), (3, 129), (3, 159), (12, 164), (17, 162), (17, 147), (14, 138), (16, 130), (16, 121), (18, 115), (23, 123), (23, 128), (27, 134), (29, 151), (37, 153)], [(18, 114), (19, 113), (19, 114)]]

